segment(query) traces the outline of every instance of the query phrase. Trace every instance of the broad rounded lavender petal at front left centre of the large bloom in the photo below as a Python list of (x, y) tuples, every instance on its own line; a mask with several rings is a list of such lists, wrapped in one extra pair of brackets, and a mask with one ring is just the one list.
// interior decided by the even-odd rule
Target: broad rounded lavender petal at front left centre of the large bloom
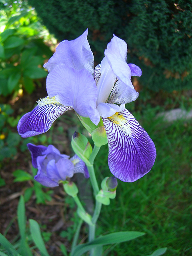
[(60, 64), (47, 76), (47, 92), (64, 106), (72, 106), (80, 116), (98, 124), (97, 87), (94, 77), (85, 69), (75, 70)]

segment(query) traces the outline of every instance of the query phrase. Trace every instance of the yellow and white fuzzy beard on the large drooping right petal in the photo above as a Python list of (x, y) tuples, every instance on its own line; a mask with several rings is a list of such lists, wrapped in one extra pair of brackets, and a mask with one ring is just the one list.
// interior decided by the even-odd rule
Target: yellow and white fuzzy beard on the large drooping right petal
[(115, 125), (118, 125), (126, 136), (131, 135), (132, 131), (128, 120), (126, 120), (123, 115), (119, 114), (119, 112), (116, 112), (113, 116), (108, 117), (108, 119), (112, 121)]

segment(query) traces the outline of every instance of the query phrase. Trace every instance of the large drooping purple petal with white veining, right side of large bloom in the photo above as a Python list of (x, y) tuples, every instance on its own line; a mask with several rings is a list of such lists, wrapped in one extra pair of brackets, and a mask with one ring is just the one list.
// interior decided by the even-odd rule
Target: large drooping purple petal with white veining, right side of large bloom
[(108, 164), (112, 174), (134, 182), (148, 173), (156, 158), (156, 149), (147, 132), (126, 109), (110, 118), (102, 118), (108, 137)]

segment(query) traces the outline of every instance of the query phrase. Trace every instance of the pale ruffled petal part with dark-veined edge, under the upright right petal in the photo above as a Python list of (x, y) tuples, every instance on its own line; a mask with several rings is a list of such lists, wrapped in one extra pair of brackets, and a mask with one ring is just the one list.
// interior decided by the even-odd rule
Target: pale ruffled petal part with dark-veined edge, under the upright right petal
[(117, 103), (117, 104), (122, 104), (122, 103), (127, 104), (136, 100), (138, 96), (139, 96), (139, 93), (136, 92), (134, 88), (132, 88), (131, 80), (130, 80), (130, 86), (118, 80), (110, 94), (110, 98), (108, 102)]

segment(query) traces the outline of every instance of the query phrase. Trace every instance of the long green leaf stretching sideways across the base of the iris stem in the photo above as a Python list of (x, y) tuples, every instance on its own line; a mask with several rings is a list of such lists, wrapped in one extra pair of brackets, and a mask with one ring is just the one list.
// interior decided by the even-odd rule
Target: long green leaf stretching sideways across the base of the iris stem
[(125, 231), (114, 232), (105, 236), (100, 236), (99, 238), (96, 238), (91, 242), (76, 246), (76, 248), (72, 252), (72, 256), (81, 256), (82, 254), (84, 254), (84, 252), (87, 252), (94, 247), (130, 241), (132, 239), (138, 238), (139, 236), (143, 236), (144, 234), (145, 233), (143, 232), (137, 231)]

